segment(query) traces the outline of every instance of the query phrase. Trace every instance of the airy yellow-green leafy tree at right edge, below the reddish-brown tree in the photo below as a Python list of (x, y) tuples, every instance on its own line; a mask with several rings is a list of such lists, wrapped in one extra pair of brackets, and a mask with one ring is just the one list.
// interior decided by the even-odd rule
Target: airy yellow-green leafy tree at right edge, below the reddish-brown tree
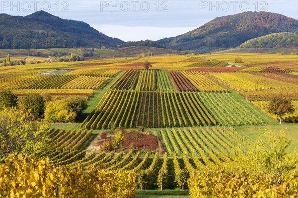
[(260, 164), (263, 173), (274, 177), (277, 184), (283, 183), (280, 179), (284, 174), (297, 168), (298, 149), (287, 153), (286, 149), (291, 144), (287, 139), (285, 130), (275, 132), (265, 131), (264, 140), (258, 140), (255, 147), (255, 158)]

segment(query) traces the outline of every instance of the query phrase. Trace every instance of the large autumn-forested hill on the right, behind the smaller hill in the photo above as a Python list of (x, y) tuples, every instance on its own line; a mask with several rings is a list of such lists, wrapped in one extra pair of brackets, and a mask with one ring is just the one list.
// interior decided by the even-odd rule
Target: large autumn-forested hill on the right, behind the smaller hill
[(278, 32), (295, 32), (298, 20), (271, 12), (242, 12), (217, 17), (185, 34), (156, 41), (175, 50), (194, 50), (205, 45), (230, 48), (241, 43)]

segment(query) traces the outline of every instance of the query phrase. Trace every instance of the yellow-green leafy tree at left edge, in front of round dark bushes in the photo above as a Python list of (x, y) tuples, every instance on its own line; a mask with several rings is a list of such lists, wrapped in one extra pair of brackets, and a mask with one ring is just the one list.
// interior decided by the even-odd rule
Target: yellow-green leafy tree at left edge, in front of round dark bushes
[(0, 160), (13, 154), (41, 156), (48, 146), (49, 129), (33, 120), (24, 110), (4, 108), (0, 111)]

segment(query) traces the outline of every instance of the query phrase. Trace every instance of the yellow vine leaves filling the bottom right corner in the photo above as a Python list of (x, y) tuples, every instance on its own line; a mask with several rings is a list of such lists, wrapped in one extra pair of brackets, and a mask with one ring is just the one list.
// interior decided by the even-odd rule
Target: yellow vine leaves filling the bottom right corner
[(191, 198), (297, 198), (298, 173), (276, 184), (272, 177), (241, 169), (195, 172), (188, 179)]

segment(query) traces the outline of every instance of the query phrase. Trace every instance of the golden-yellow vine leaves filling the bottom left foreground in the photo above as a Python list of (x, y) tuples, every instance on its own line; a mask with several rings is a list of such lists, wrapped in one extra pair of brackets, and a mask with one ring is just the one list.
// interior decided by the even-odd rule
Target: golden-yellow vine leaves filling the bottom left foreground
[(60, 198), (124, 198), (135, 194), (135, 179), (132, 171), (70, 170), (48, 158), (10, 155), (0, 164), (0, 198), (55, 198), (57, 183)]

